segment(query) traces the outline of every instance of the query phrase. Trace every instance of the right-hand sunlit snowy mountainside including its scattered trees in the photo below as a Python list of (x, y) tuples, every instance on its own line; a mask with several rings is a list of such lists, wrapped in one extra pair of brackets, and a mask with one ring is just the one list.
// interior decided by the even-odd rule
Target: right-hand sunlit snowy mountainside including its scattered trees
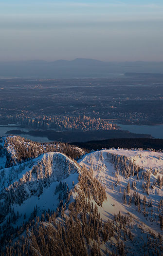
[(98, 207), (102, 219), (114, 219), (119, 212), (132, 216), (134, 246), (126, 241), (126, 249), (128, 255), (137, 255), (136, 243), (139, 255), (144, 255), (141, 239), (144, 243), (146, 234), (163, 237), (163, 153), (110, 149), (90, 153), (78, 162), (93, 170), (93, 177), (105, 187), (107, 200)]

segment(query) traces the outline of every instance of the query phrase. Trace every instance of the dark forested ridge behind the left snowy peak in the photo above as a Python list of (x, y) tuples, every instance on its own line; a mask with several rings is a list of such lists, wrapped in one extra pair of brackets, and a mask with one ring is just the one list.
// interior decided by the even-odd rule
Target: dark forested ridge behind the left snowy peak
[(0, 169), (37, 158), (47, 152), (61, 152), (70, 158), (80, 158), (85, 152), (61, 142), (39, 143), (20, 136), (0, 138)]

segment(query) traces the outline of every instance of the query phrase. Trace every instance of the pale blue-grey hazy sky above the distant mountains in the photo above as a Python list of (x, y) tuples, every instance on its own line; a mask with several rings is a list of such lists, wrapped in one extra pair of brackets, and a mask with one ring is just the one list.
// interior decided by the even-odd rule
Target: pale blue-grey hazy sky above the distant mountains
[(163, 0), (0, 0), (0, 60), (163, 61)]

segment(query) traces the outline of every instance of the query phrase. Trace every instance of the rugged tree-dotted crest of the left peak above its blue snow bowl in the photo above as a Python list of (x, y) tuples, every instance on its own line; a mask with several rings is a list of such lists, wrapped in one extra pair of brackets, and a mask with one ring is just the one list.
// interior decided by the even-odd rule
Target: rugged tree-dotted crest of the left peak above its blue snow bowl
[[(14, 173), (15, 168), (10, 169)], [(78, 173), (79, 169), (77, 164), (64, 154), (54, 152), (40, 156), (28, 171), (19, 173), (18, 180), (2, 189), (0, 214), (3, 219), (10, 212), (12, 205), (20, 206), (31, 197), (40, 197), (43, 190), (49, 188), (52, 183), (58, 183)], [(5, 181), (3, 180), (2, 183)]]

